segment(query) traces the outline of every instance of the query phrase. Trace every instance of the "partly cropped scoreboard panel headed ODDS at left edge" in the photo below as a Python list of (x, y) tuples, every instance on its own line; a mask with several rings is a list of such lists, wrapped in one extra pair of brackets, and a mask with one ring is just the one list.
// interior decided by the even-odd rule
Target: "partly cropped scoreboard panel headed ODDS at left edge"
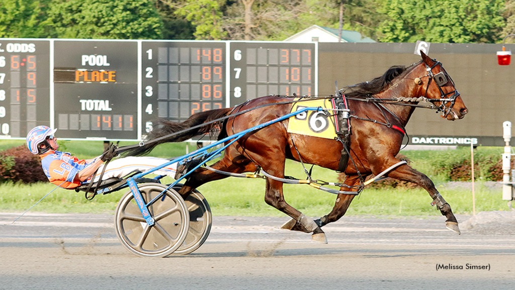
[(0, 40), (0, 136), (50, 124), (49, 54), (48, 41)]

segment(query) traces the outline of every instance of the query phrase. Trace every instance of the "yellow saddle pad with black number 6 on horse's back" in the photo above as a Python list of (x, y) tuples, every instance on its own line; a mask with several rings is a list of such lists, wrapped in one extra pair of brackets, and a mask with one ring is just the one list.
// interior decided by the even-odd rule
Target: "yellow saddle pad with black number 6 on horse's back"
[[(297, 98), (296, 100), (298, 100)], [(332, 99), (319, 99), (294, 103), (291, 112), (295, 112), (305, 107), (322, 107), (324, 109), (334, 109)], [(336, 116), (334, 111), (329, 110), (329, 115), (323, 111), (305, 111), (289, 118), (288, 133), (308, 135), (320, 138), (334, 139), (336, 137)]]

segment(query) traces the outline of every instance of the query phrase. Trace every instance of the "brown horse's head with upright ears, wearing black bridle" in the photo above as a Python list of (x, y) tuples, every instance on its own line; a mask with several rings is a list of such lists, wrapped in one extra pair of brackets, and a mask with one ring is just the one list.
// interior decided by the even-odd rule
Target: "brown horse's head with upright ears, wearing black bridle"
[(427, 74), (415, 80), (416, 84), (422, 87), (421, 92), (425, 98), (435, 100), (434, 103), (439, 106), (438, 110), (442, 112), (442, 118), (454, 121), (465, 117), (469, 110), (454, 86), (452, 78), (439, 61), (431, 59), (422, 51), (420, 54), (423, 61), (421, 65), (425, 65), (424, 73)]

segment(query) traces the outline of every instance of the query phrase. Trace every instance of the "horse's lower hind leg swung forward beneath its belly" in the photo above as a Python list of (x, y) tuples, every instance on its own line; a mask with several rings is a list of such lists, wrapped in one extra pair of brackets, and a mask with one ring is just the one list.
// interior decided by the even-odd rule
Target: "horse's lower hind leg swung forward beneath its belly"
[[(303, 213), (299, 212), (296, 208), (286, 203), (283, 196), (283, 183), (267, 178), (266, 179), (266, 192), (265, 202), (281, 212), (292, 217), (295, 223), (299, 223), (306, 233), (313, 233), (311, 238), (319, 243), (327, 244), (325, 233), (311, 218), (306, 217)], [(284, 225), (283, 225), (284, 228)]]

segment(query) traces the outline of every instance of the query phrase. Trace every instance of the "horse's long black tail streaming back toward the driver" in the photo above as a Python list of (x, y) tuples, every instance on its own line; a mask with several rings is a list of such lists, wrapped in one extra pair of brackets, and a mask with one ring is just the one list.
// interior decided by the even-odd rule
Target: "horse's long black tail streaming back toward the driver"
[[(181, 142), (187, 139), (190, 139), (195, 136), (199, 136), (202, 134), (213, 133), (214, 131), (224, 131), (222, 128), (221, 122), (213, 122), (210, 124), (206, 124), (205, 126), (199, 126), (196, 128), (192, 128), (191, 130), (187, 130), (188, 128), (195, 127), (201, 125), (202, 123), (210, 122), (221, 117), (224, 117), (230, 112), (232, 108), (224, 108), (224, 109), (215, 109), (204, 112), (198, 112), (193, 114), (186, 121), (172, 122), (165, 119), (158, 119), (152, 124), (152, 131), (150, 131), (145, 137), (144, 142), (149, 142), (144, 146), (136, 147), (133, 149), (129, 149), (125, 152), (127, 156), (139, 156), (144, 155), (152, 151), (156, 146), (162, 143), (167, 142)], [(156, 140), (158, 138), (171, 135), (180, 131), (179, 134), (175, 134), (173, 136), (169, 136), (160, 140)]]

